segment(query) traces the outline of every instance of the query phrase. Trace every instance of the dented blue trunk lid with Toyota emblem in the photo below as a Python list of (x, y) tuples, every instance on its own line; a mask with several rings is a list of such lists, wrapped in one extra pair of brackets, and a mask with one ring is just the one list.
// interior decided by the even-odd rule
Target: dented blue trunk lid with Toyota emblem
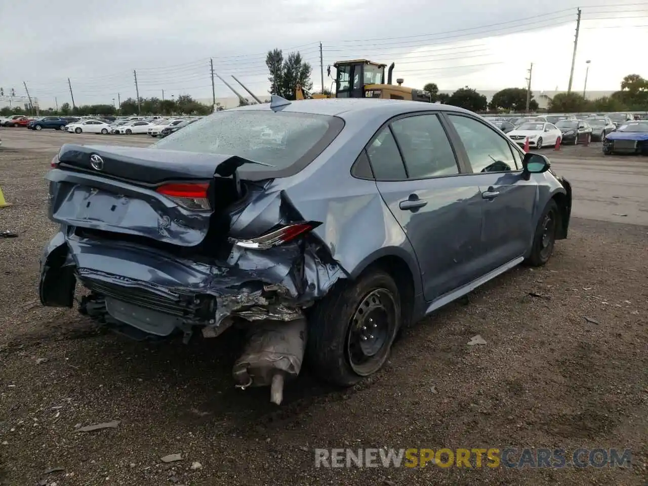
[[(263, 192), (258, 184), (251, 191), (241, 189), (237, 168), (244, 163), (256, 162), (222, 154), (64, 145), (46, 176), (50, 218), (78, 237), (176, 252), (203, 242), (217, 248), (227, 238), (231, 213)], [(169, 185), (194, 184), (205, 191), (202, 200), (209, 206), (187, 205), (200, 196), (178, 198), (164, 191)]]

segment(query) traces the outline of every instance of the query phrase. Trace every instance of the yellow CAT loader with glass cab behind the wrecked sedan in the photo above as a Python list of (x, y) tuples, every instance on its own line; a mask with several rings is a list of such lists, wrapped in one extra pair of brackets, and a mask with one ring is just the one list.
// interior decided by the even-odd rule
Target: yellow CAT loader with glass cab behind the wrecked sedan
[[(306, 95), (297, 86), (296, 98), (386, 98), (391, 100), (413, 100), (430, 102), (430, 93), (422, 89), (402, 86), (403, 80), (397, 79), (397, 84), (391, 84), (391, 73), (394, 63), (391, 63), (385, 82), (386, 64), (378, 64), (366, 59), (351, 61), (338, 61), (333, 64), (337, 73), (335, 79), (335, 93), (332, 95), (313, 94)], [(330, 69), (329, 69), (330, 73)]]

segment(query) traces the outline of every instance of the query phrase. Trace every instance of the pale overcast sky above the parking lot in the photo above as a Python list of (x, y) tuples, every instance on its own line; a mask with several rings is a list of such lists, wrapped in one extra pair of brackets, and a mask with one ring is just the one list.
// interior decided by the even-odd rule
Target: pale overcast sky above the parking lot
[[(189, 93), (211, 98), (209, 59), (231, 84), (237, 76), (259, 95), (268, 90), (265, 54), (299, 50), (321, 87), (324, 66), (369, 58), (395, 62), (406, 86), (492, 90), (566, 89), (576, 7), (583, 11), (573, 89), (619, 89), (629, 73), (648, 76), (648, 2), (592, 0), (0, 0), (0, 86), (25, 95), (27, 82), (41, 107), (70, 102), (112, 103), (139, 94)], [(11, 40), (11, 41), (7, 41)], [(334, 71), (332, 71), (334, 75)], [(325, 86), (331, 80), (326, 78)], [(234, 85), (240, 91), (238, 85)], [(216, 78), (216, 97), (231, 97)], [(0, 101), (0, 105), (5, 103)]]

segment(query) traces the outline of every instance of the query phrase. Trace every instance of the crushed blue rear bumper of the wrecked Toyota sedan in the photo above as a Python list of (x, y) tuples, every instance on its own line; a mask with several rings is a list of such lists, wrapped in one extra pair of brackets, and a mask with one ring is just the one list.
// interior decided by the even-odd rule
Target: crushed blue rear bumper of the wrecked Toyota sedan
[(72, 307), (80, 283), (102, 299), (104, 321), (156, 336), (191, 335), (196, 327), (216, 336), (233, 318), (303, 319), (303, 309), (345, 276), (339, 266), (319, 260), (314, 249), (304, 251), (297, 244), (262, 251), (235, 248), (227, 261), (198, 261), (146, 246), (81, 238), (70, 229), (52, 238), (40, 268), (43, 305)]

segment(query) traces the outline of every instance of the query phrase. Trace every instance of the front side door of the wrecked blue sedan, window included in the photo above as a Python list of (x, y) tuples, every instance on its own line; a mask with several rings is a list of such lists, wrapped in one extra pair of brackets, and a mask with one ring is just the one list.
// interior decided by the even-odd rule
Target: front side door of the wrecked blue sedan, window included
[(480, 273), (521, 257), (535, 233), (537, 183), (522, 176), (522, 154), (506, 135), (459, 113), (446, 115), (469, 162), (469, 174), (482, 198)]

